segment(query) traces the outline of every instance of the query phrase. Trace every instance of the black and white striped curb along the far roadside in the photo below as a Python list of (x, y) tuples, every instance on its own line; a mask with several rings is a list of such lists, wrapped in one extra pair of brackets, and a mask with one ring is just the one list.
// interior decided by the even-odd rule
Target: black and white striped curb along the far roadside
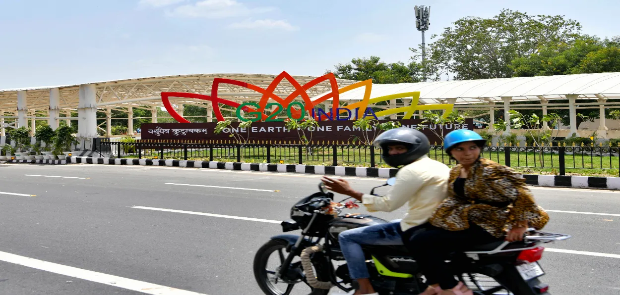
[[(102, 165), (142, 165), (142, 166), (169, 166), (187, 168), (226, 169), (239, 171), (267, 171), (289, 172), (306, 174), (325, 174), (340, 176), (362, 177), (392, 177), (396, 176), (398, 169), (392, 168), (365, 168), (343, 166), (318, 166), (318, 165), (291, 165), (291, 164), (267, 164), (267, 163), (232, 163), (216, 161), (184, 161), (184, 160), (151, 160), (151, 159), (118, 159), (118, 158), (93, 158), (87, 156), (72, 156), (67, 160), (12, 160), (10, 163), (41, 163), (55, 161), (55, 164), (102, 164)], [(51, 163), (49, 163), (51, 164)], [(590, 177), (590, 176), (554, 176), (523, 174), (526, 183), (532, 186), (544, 187), (582, 187), (597, 189), (620, 190), (620, 177)]]

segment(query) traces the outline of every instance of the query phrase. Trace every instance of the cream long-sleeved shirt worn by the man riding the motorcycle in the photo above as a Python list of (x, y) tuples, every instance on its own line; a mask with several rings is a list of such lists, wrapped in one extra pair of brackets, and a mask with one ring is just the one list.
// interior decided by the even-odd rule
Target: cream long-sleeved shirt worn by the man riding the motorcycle
[(409, 202), (409, 210), (401, 221), (401, 229), (428, 221), (435, 208), (447, 196), (450, 169), (423, 156), (396, 173), (396, 184), (384, 197), (365, 194), (362, 203), (370, 212), (392, 212)]

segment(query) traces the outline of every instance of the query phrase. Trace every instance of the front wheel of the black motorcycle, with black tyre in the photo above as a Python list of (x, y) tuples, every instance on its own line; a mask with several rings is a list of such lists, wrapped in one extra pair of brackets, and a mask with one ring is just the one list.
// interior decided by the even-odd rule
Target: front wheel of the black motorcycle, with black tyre
[[(305, 283), (305, 280), (297, 280), (294, 282), (284, 282), (280, 280), (280, 284), (287, 285), (284, 291), (281, 291), (281, 288), (278, 288), (278, 286), (276, 286), (276, 284), (278, 283), (275, 283), (273, 281), (273, 278), (275, 278), (275, 271), (277, 271), (277, 267), (280, 267), (281, 263), (284, 261), (284, 259), (286, 259), (286, 255), (288, 255), (288, 253), (286, 252), (287, 246), (288, 241), (284, 241), (281, 239), (272, 239), (271, 241), (268, 241), (262, 247), (260, 247), (260, 249), (256, 252), (256, 255), (254, 256), (254, 278), (256, 279), (256, 282), (259, 284), (260, 289), (262, 289), (263, 293), (267, 295), (290, 295), (293, 294), (291, 292), (293, 292), (293, 289), (295, 289), (294, 294), (301, 294), (299, 293), (300, 290), (303, 290), (303, 294), (308, 295), (329, 294), (329, 290), (315, 289), (311, 286), (308, 286), (308, 284)], [(269, 269), (270, 267), (268, 264), (272, 254), (276, 254), (276, 256), (279, 257), (280, 260), (279, 263), (276, 263), (277, 267)], [(291, 263), (291, 267), (299, 267), (299, 263), (295, 262), (296, 260), (299, 261), (299, 259), (296, 257), (296, 259), (293, 260), (293, 263)], [(301, 267), (299, 267), (299, 269), (301, 270)], [(319, 281), (325, 280), (325, 276), (322, 275), (321, 270), (315, 268), (314, 271)]]

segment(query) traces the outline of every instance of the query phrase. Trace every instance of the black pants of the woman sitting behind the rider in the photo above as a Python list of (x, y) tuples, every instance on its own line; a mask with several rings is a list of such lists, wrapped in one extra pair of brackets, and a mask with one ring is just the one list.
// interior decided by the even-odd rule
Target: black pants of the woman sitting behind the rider
[(446, 257), (451, 252), (469, 250), (472, 246), (500, 241), (476, 224), (463, 231), (448, 231), (430, 223), (410, 228), (403, 233), (403, 242), (418, 262), (427, 284), (440, 284), (441, 289), (452, 289), (458, 284), (450, 273)]

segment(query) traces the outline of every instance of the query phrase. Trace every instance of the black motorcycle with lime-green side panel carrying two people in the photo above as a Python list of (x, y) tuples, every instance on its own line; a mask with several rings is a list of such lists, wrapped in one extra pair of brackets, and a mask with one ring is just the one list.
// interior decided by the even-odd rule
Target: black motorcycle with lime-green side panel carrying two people
[[(396, 178), (383, 186), (392, 186)], [(374, 194), (374, 187), (370, 194)], [(345, 199), (347, 200), (347, 199)], [(344, 201), (344, 200), (343, 200)], [(340, 215), (344, 208), (358, 207), (349, 201), (334, 202), (324, 184), (319, 192), (299, 200), (282, 221), (282, 231), (301, 229), (301, 234), (280, 234), (263, 244), (254, 257), (254, 276), (263, 293), (289, 295), (304, 286), (309, 295), (327, 295), (332, 287), (348, 292), (355, 281), (348, 274), (338, 235), (347, 229), (389, 221), (366, 214)], [(528, 229), (523, 241), (499, 241), (446, 257), (449, 267), (474, 294), (550, 294), (540, 281), (544, 270), (539, 263), (542, 244), (569, 239), (567, 234)], [(373, 288), (380, 295), (420, 294), (427, 284), (415, 260), (404, 246), (363, 246)], [(277, 255), (273, 255), (277, 254)], [(270, 258), (275, 256), (275, 263)], [(278, 284), (280, 284), (278, 286)], [(282, 284), (284, 286), (282, 286)], [(301, 287), (300, 287), (301, 288)], [(309, 290), (309, 291), (308, 291)]]

